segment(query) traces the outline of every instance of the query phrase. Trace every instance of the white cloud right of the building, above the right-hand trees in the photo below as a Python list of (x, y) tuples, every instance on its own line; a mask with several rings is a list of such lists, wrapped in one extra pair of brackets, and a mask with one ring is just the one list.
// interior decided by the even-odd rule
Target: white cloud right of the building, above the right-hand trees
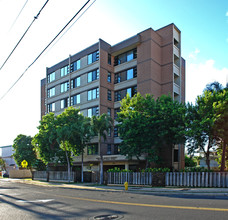
[(228, 68), (217, 69), (214, 60), (195, 64), (187, 62), (186, 65), (186, 101), (195, 103), (198, 95), (201, 95), (206, 85), (218, 81), (223, 86), (228, 80)]

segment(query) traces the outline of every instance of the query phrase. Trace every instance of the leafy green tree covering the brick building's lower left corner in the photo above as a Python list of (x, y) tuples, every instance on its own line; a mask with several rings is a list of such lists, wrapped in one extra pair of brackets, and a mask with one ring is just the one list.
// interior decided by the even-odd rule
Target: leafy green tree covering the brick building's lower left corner
[(59, 147), (57, 142), (56, 126), (57, 121), (54, 113), (43, 116), (38, 126), (39, 132), (32, 140), (37, 157), (47, 166), (48, 163), (66, 164), (65, 152)]

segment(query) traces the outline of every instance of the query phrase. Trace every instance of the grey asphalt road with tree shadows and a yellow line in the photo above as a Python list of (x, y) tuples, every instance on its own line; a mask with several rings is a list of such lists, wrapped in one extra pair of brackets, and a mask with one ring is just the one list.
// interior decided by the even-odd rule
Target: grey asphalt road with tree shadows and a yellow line
[(227, 220), (228, 197), (82, 190), (0, 179), (0, 219)]

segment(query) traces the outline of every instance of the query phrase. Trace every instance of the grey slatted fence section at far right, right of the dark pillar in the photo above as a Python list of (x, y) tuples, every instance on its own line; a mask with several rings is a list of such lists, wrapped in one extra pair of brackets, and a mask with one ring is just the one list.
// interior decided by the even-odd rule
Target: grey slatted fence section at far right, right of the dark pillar
[(228, 187), (228, 172), (168, 172), (166, 186)]

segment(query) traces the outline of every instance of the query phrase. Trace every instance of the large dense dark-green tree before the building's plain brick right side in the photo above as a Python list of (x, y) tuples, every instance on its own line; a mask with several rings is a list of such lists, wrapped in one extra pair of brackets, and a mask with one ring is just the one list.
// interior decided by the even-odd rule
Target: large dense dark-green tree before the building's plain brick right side
[(128, 158), (146, 154), (148, 162), (161, 165), (161, 152), (185, 141), (184, 117), (185, 105), (170, 96), (155, 100), (150, 94), (127, 95), (117, 119), (121, 154)]

